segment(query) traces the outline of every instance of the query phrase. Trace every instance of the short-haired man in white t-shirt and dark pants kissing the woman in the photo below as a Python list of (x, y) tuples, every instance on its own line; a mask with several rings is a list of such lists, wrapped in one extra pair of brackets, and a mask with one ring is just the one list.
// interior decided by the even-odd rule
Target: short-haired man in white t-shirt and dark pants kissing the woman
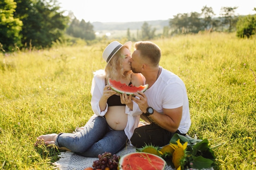
[(130, 59), (132, 71), (145, 77), (148, 89), (132, 100), (148, 125), (136, 128), (130, 141), (137, 148), (145, 144), (164, 146), (175, 133), (186, 135), (191, 125), (189, 99), (182, 80), (159, 66), (161, 49), (149, 41), (136, 42)]

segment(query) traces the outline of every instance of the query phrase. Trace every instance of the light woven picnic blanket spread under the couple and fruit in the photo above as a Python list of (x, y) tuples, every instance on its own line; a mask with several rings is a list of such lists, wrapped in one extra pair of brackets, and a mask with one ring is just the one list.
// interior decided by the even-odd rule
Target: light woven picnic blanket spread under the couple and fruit
[[(127, 145), (126, 148), (118, 152), (117, 155), (123, 156), (131, 152), (136, 152), (135, 147)], [(92, 167), (93, 161), (98, 159), (98, 158), (83, 157), (69, 151), (61, 152), (60, 155), (58, 155), (58, 157), (60, 157), (60, 159), (53, 163), (55, 165), (55, 169), (58, 169), (58, 170), (83, 170), (87, 167)], [(175, 170), (175, 169), (171, 168), (171, 166), (168, 166), (166, 164), (164, 170)], [(204, 170), (213, 170), (213, 168), (204, 169)]]

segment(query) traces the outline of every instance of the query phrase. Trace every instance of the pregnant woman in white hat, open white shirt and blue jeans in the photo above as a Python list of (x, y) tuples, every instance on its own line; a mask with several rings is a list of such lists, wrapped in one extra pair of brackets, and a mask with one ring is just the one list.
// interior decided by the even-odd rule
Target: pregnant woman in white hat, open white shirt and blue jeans
[(131, 96), (118, 95), (112, 91), (108, 78), (127, 85), (143, 85), (142, 75), (131, 71), (130, 48), (132, 42), (124, 45), (111, 42), (103, 51), (107, 62), (105, 70), (94, 72), (91, 88), (91, 105), (94, 115), (76, 133), (41, 135), (35, 145), (45, 144), (70, 150), (85, 157), (97, 157), (104, 152), (112, 154), (122, 150), (138, 127), (141, 110)]

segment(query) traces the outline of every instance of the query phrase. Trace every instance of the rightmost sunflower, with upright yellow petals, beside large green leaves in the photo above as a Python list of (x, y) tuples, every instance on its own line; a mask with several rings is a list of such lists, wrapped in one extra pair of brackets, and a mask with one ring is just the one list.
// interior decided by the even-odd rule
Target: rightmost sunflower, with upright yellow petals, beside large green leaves
[(188, 145), (188, 142), (185, 142), (184, 145), (180, 143), (180, 139), (177, 140), (177, 145), (170, 144), (171, 147), (174, 149), (173, 152), (173, 164), (177, 170), (181, 170), (181, 168), (186, 163), (186, 146)]

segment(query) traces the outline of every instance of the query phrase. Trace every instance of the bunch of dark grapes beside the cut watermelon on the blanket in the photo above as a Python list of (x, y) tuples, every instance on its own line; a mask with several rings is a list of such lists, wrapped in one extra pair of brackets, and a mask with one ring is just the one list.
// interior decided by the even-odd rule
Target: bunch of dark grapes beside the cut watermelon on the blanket
[(120, 156), (117, 156), (116, 154), (112, 155), (110, 152), (105, 152), (103, 154), (99, 154), (98, 158), (99, 160), (93, 161), (92, 167), (94, 170), (105, 170), (107, 167), (110, 170), (117, 170)]

